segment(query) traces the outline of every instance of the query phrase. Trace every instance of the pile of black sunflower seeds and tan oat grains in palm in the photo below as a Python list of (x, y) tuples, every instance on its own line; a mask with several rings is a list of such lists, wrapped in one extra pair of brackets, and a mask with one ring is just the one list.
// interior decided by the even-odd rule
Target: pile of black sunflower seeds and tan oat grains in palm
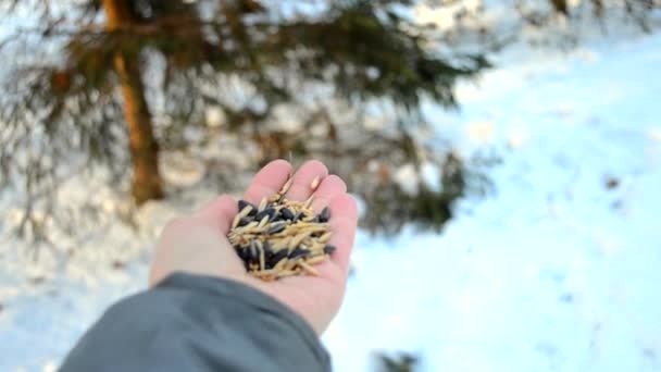
[[(327, 244), (332, 235), (328, 208), (316, 214), (311, 208), (313, 197), (305, 201), (286, 199), (291, 182), (289, 177), (277, 194), (259, 206), (239, 200), (239, 213), (227, 236), (248, 273), (264, 281), (319, 275), (312, 265), (335, 251)], [(319, 184), (317, 177), (310, 188), (314, 191)]]

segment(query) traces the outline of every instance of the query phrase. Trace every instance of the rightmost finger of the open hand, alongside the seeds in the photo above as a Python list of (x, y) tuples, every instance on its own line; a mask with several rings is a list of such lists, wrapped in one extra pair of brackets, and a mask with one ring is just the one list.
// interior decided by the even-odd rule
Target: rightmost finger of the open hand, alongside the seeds
[(348, 194), (342, 194), (330, 201), (330, 228), (333, 237), (332, 246), (336, 250), (330, 255), (333, 262), (345, 272), (349, 272), (349, 257), (353, 249), (356, 228), (358, 225), (358, 206), (356, 200)]

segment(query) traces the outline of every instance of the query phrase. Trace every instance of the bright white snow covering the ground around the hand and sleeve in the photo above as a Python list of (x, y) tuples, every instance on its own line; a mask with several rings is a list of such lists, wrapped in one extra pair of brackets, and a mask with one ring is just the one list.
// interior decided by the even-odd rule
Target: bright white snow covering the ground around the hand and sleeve
[[(494, 191), (464, 200), (441, 235), (359, 235), (323, 337), (335, 370), (407, 350), (422, 371), (661, 371), (661, 34), (519, 51), (461, 87), (462, 112), (428, 108), (460, 152), (501, 158)], [(148, 206), (139, 238), (89, 237), (98, 252), (125, 247), (114, 264), (45, 253), (50, 266), (27, 282), (3, 241), (0, 371), (53, 370), (110, 302), (144, 287), (158, 227), (190, 204)]]

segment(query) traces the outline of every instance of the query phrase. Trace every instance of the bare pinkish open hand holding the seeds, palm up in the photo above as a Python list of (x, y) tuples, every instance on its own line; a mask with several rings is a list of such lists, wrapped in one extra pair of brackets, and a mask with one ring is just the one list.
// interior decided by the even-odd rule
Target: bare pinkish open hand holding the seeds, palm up
[[(274, 195), (287, 181), (291, 164), (275, 160), (254, 176), (244, 199), (258, 204), (263, 197)], [(275, 282), (263, 282), (249, 275), (244, 263), (227, 240), (232, 221), (238, 212), (237, 201), (221, 196), (189, 216), (177, 218), (162, 232), (151, 265), (150, 285), (177, 272), (210, 275), (250, 285), (285, 303), (300, 314), (317, 334), (324, 332), (341, 305), (349, 273), (349, 256), (358, 223), (356, 201), (347, 194), (347, 186), (336, 175), (328, 175), (319, 161), (304, 163), (295, 174), (286, 197), (305, 200), (312, 194), (310, 184), (322, 181), (314, 191), (312, 208), (319, 213), (330, 209), (329, 241), (337, 250), (317, 265), (319, 276), (289, 276)]]

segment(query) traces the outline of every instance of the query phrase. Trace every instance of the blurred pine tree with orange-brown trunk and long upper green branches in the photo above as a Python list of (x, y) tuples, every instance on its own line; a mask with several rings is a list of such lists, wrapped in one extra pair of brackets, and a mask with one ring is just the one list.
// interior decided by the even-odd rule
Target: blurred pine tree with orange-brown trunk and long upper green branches
[[(452, 106), (456, 80), (486, 65), (479, 57), (458, 64), (427, 50), (425, 29), (397, 11), (412, 1), (326, 1), (322, 10), (308, 12), (298, 11), (302, 3), (297, 1), (266, 3), (11, 1), (5, 4), (10, 11), (36, 7), (40, 16), (37, 27), (2, 49), (3, 60), (24, 62), (8, 74), (0, 121), (14, 129), (42, 131), (52, 139), (48, 146), (59, 142), (112, 162), (117, 161), (112, 141), (125, 132), (133, 197), (142, 203), (163, 196), (159, 136), (146, 88), (155, 65), (163, 74), (165, 107), (184, 115), (176, 125), (199, 120), (210, 103), (221, 106), (235, 125), (257, 122), (274, 106), (297, 99), (284, 75), (330, 85), (338, 97), (354, 102), (388, 99), (413, 111), (428, 96)], [(288, 7), (297, 13), (283, 15)], [(21, 37), (26, 44), (38, 40), (29, 46), (37, 51), (29, 53), (48, 49), (54, 55), (12, 55), (11, 46)], [(230, 76), (253, 89), (262, 107), (234, 108), (219, 98), (225, 87), (207, 88)]]

